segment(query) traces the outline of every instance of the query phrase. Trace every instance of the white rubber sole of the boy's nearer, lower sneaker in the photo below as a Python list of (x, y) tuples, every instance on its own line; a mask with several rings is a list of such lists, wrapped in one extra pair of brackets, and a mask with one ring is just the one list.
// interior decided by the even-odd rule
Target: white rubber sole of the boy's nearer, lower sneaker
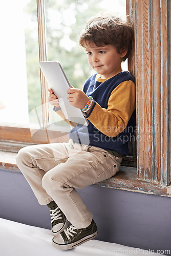
[(70, 249), (75, 248), (76, 246), (78, 246), (80, 244), (83, 244), (83, 243), (85, 243), (89, 240), (94, 239), (95, 237), (97, 237), (97, 234), (98, 234), (98, 230), (96, 232), (94, 232), (93, 234), (91, 234), (90, 236), (84, 237), (84, 238), (80, 239), (79, 241), (76, 241), (76, 242), (71, 243), (71, 244), (57, 244), (52, 239), (52, 245), (55, 248), (60, 249), (60, 250), (70, 250)]

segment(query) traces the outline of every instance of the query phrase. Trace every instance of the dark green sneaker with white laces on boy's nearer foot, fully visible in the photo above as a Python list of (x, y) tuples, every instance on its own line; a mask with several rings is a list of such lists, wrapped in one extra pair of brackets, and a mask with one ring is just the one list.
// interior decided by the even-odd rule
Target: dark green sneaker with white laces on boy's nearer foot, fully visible
[(77, 229), (71, 225), (52, 239), (52, 245), (57, 249), (69, 250), (97, 237), (97, 234), (98, 230), (94, 220), (87, 228)]

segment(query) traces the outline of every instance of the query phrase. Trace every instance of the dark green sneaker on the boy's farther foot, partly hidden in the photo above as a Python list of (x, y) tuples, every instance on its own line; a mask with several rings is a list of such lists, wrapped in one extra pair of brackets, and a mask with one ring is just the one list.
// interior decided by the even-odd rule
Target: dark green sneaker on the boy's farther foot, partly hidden
[(58, 233), (70, 226), (70, 222), (54, 201), (49, 203), (48, 207), (50, 208), (52, 233), (57, 236)]

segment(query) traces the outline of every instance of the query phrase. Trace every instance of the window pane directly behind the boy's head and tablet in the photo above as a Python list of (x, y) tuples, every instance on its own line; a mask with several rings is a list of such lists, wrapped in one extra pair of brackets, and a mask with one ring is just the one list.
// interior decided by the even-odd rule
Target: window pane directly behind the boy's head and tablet
[[(104, 10), (125, 18), (125, 2), (125, 0), (45, 0), (47, 60), (58, 60), (61, 63), (73, 87), (82, 89), (84, 81), (94, 73), (88, 64), (86, 52), (78, 44), (81, 30), (90, 17)], [(123, 63), (123, 70), (127, 70), (126, 61)], [(50, 125), (54, 125), (58, 118), (50, 106)], [(63, 125), (67, 124), (63, 122)]]

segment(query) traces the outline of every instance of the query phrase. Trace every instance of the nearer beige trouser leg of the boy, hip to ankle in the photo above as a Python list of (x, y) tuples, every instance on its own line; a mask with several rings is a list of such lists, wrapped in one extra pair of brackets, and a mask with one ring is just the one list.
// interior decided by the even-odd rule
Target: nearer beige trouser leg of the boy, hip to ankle
[[(78, 145), (74, 144), (74, 150)], [(42, 179), (42, 186), (76, 228), (86, 228), (92, 222), (92, 213), (75, 188), (83, 188), (114, 176), (121, 160), (101, 148), (87, 146), (71, 155), (65, 163), (49, 170)]]

